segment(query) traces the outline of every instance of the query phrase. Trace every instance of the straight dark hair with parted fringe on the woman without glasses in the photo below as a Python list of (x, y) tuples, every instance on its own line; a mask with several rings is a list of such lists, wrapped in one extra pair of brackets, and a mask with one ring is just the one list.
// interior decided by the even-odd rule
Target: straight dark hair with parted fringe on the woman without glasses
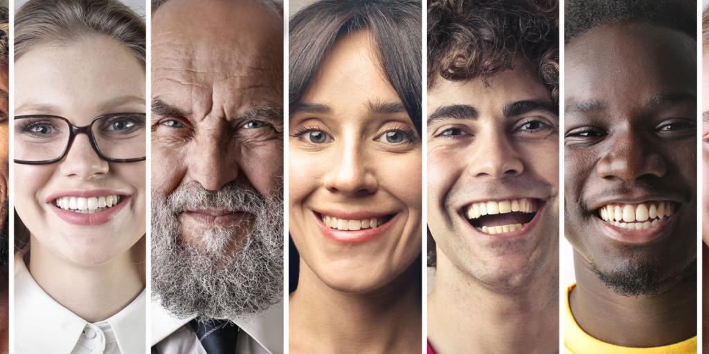
[(289, 104), (294, 107), (316, 79), (339, 38), (368, 30), (381, 69), (421, 131), (421, 3), (413, 0), (323, 0), (291, 19)]

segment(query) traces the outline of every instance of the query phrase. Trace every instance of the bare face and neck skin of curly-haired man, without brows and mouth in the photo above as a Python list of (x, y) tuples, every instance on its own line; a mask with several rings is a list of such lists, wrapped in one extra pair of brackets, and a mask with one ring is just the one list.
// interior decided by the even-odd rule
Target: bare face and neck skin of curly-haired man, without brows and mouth
[[(544, 105), (504, 113), (506, 105), (527, 100)], [(478, 117), (435, 118), (449, 105), (469, 105)], [(541, 108), (547, 106), (553, 111)], [(549, 92), (517, 60), (488, 85), (439, 78), (428, 91), (428, 117), (428, 226), (437, 246), (430, 343), (437, 353), (555, 351), (559, 118)], [(463, 217), (471, 202), (522, 197), (545, 200), (522, 237), (481, 234)]]

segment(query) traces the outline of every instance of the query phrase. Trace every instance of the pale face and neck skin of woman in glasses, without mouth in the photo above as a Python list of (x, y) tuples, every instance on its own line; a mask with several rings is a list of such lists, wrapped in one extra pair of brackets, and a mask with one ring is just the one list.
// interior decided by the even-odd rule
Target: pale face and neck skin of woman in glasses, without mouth
[[(97, 115), (145, 112), (145, 68), (127, 47), (92, 35), (38, 45), (16, 60), (16, 115), (52, 114), (74, 125)], [(88, 321), (123, 309), (143, 288), (145, 162), (108, 163), (78, 135), (64, 159), (15, 165), (16, 212), (30, 230), (30, 273), (57, 302)], [(60, 190), (120, 190), (128, 205), (105, 224), (60, 219), (45, 198)], [(67, 287), (67, 284), (72, 284)]]

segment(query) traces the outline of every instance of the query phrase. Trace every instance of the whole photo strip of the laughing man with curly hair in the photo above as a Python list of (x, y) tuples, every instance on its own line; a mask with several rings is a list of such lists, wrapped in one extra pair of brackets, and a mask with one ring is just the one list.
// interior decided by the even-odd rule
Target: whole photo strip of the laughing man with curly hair
[(559, 348), (558, 22), (429, 2), (429, 354)]

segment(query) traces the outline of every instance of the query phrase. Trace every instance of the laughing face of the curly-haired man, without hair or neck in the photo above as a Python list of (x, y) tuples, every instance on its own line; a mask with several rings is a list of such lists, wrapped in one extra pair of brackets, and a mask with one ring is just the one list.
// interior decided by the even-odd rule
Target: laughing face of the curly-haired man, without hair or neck
[(487, 287), (557, 262), (558, 106), (527, 62), (428, 92), (428, 227), (437, 263)]

